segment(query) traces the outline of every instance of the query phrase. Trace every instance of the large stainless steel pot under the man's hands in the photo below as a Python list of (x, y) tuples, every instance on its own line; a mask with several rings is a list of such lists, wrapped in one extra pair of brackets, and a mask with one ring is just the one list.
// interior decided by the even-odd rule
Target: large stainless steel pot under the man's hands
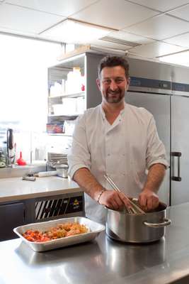
[(107, 208), (106, 234), (111, 239), (129, 243), (150, 243), (158, 241), (165, 234), (165, 226), (171, 224), (166, 219), (163, 202), (153, 212), (147, 214), (128, 214)]

